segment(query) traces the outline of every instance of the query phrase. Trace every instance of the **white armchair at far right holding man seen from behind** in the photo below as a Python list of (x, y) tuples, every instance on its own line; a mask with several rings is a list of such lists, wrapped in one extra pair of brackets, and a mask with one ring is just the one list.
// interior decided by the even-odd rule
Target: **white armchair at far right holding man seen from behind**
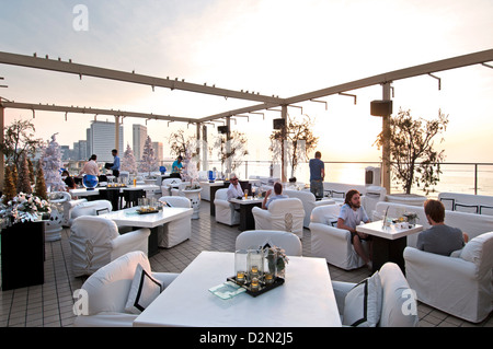
[(493, 232), (470, 240), (451, 256), (408, 246), (404, 260), (421, 302), (472, 323), (493, 310)]

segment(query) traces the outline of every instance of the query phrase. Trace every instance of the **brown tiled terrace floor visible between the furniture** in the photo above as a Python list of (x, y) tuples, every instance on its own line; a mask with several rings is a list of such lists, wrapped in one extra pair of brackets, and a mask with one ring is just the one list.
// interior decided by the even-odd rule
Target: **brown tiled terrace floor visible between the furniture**
[[(160, 249), (150, 258), (153, 271), (182, 271), (202, 251), (234, 251), (240, 233), (237, 226), (216, 223), (209, 203), (202, 201), (200, 218), (192, 221), (192, 239), (169, 249)], [(69, 230), (62, 239), (46, 243), (45, 283), (0, 291), (0, 327), (65, 327), (73, 324), (73, 291), (84, 279), (74, 278), (70, 265)], [(305, 230), (303, 256), (311, 256), (310, 231)], [(369, 276), (366, 268), (345, 271), (329, 265), (333, 280), (357, 282)], [(471, 324), (424, 304), (419, 305), (420, 326), (424, 327), (493, 327), (490, 315), (480, 324)]]

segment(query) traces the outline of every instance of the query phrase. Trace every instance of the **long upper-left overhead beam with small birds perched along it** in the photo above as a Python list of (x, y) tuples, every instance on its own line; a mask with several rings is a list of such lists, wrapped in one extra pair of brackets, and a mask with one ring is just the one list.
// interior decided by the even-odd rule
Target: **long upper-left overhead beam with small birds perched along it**
[(167, 88), (171, 90), (181, 90), (204, 94), (211, 94), (223, 97), (231, 97), (238, 100), (246, 100), (246, 101), (256, 101), (264, 103), (277, 103), (279, 101), (278, 97), (267, 96), (262, 94), (254, 94), (248, 92), (240, 92), (227, 89), (219, 89), (215, 85), (207, 86), (206, 84), (196, 84), (185, 82), (184, 79), (181, 81), (175, 78), (173, 79), (163, 79), (156, 78), (149, 75), (137, 74), (135, 72), (125, 72), (119, 70), (99, 68), (85, 65), (73, 63), (71, 60), (66, 62), (61, 60), (54, 60), (48, 58), (38, 58), (36, 56), (25, 56), (25, 55), (16, 55), (0, 51), (0, 63), (35, 68), (35, 69), (44, 69), (50, 71), (58, 71), (65, 73), (77, 74), (80, 78), (82, 77), (94, 77), (110, 80), (117, 80), (124, 82), (131, 82), (138, 84), (145, 84), (156, 88)]

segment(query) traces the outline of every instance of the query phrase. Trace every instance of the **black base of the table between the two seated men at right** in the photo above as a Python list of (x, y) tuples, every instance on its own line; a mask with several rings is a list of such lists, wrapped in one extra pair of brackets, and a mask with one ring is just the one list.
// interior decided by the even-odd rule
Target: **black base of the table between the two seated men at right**
[(395, 263), (405, 275), (403, 252), (408, 245), (406, 236), (388, 240), (379, 236), (372, 236), (374, 272), (379, 270), (387, 261)]

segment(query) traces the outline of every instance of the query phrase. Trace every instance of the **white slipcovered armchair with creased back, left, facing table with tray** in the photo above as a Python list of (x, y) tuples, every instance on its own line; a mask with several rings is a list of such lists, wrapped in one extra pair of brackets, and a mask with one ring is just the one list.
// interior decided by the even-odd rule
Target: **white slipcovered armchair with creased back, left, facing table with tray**
[(147, 228), (121, 235), (116, 223), (103, 217), (76, 218), (69, 237), (73, 275), (91, 275), (131, 251), (147, 254), (149, 235), (150, 230)]

